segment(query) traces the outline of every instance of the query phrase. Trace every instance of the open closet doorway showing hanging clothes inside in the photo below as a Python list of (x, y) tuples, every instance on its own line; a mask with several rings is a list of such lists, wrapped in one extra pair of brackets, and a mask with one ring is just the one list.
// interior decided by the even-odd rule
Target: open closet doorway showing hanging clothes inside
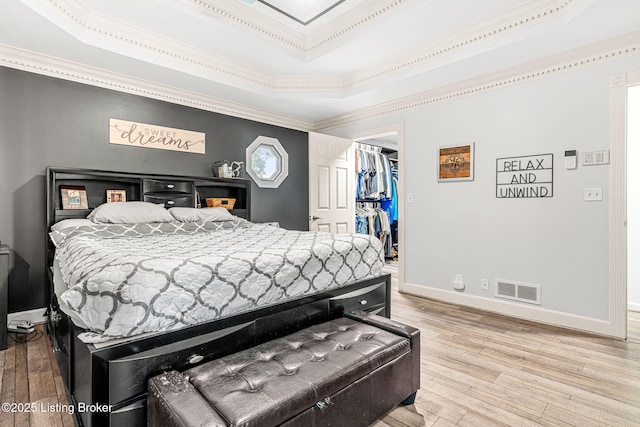
[[(387, 267), (397, 269), (398, 283), (401, 284), (404, 276), (403, 127), (392, 126), (359, 132), (349, 135), (349, 138), (354, 142), (356, 154), (356, 232), (379, 237), (379, 233), (382, 233), (381, 241), (385, 247)], [(373, 171), (373, 176), (365, 178), (365, 169)], [(388, 234), (385, 234), (386, 232)]]

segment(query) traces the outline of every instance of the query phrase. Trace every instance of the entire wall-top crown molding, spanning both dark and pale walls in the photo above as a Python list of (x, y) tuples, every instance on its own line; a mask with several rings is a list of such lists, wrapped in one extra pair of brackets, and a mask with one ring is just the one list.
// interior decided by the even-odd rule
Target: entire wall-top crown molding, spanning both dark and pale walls
[(308, 122), (220, 98), (160, 85), (0, 44), (0, 65), (106, 89), (159, 99), (302, 131), (323, 131), (402, 113), (429, 104), (515, 86), (606, 61), (640, 54), (640, 32), (596, 43), (498, 73), (418, 93), (319, 122)]

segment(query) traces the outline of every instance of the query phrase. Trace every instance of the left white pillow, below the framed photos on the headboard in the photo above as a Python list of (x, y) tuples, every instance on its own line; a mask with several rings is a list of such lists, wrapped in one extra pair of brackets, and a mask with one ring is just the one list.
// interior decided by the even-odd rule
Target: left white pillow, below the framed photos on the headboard
[(163, 206), (148, 202), (103, 203), (91, 211), (87, 218), (107, 224), (174, 221), (169, 211)]

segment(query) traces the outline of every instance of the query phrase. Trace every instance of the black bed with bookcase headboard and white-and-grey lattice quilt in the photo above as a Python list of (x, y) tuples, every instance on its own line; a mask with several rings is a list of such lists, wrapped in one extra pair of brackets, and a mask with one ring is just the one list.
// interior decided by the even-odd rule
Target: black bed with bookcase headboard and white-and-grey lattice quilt
[[(80, 425), (144, 425), (164, 370), (344, 311), (390, 315), (380, 242), (255, 224), (249, 181), (48, 168), (47, 185), (48, 329)], [(86, 205), (65, 209), (63, 188)], [(105, 203), (114, 188), (127, 203)]]

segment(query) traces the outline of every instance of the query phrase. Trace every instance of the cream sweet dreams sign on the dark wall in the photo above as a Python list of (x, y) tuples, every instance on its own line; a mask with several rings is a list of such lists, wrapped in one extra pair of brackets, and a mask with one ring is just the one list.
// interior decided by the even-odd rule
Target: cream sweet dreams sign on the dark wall
[(205, 134), (190, 130), (109, 119), (109, 143), (204, 154)]

